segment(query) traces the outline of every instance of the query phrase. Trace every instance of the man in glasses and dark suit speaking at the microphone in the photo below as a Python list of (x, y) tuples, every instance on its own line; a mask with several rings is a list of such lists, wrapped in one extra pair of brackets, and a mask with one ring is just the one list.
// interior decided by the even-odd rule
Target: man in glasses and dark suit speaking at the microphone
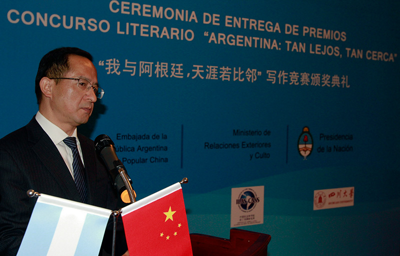
[[(28, 189), (117, 209), (116, 193), (93, 141), (76, 131), (104, 93), (91, 55), (73, 47), (48, 52), (39, 63), (35, 93), (36, 115), (0, 139), (0, 255), (15, 255), (19, 248), (36, 201), (26, 195)], [(66, 137), (76, 140), (78, 156)], [(75, 160), (83, 164), (79, 184)], [(116, 255), (126, 251), (123, 238), (120, 243)], [(111, 241), (104, 236), (103, 244)]]

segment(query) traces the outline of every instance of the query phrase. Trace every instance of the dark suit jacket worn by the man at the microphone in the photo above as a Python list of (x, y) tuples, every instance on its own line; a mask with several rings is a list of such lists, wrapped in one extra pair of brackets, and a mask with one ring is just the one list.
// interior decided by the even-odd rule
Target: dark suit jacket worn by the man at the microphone
[[(78, 138), (88, 186), (87, 203), (117, 209), (115, 192), (93, 141), (81, 134)], [(34, 117), (0, 139), (0, 255), (15, 255), (19, 248), (36, 202), (26, 195), (28, 189), (80, 201), (58, 149)]]

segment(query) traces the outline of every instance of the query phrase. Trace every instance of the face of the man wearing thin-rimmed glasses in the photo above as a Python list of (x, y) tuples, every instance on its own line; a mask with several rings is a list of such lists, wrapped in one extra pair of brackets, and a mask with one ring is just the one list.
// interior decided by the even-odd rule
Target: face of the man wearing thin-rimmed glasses
[[(97, 85), (97, 71), (89, 59), (70, 55), (68, 63), (69, 70), (63, 77), (84, 78), (93, 86)], [(82, 90), (78, 88), (76, 80), (69, 79), (61, 79), (54, 84), (51, 94), (50, 107), (56, 119), (54, 122), (66, 129), (87, 122), (97, 99), (92, 89)]]

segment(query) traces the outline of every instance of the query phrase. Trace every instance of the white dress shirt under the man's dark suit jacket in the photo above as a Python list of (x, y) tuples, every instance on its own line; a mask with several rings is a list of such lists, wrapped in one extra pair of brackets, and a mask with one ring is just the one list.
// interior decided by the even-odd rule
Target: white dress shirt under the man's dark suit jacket
[[(72, 169), (72, 161), (73, 161), (73, 156), (72, 156), (72, 150), (62, 141), (64, 138), (68, 137), (68, 134), (65, 133), (60, 127), (49, 121), (46, 117), (44, 117), (39, 111), (36, 113), (36, 121), (39, 123), (39, 125), (43, 128), (43, 130), (47, 133), (47, 135), (51, 138), (53, 141), (54, 145), (57, 147), (59, 153), (62, 156), (62, 159), (64, 159), (66, 166), (69, 169), (69, 172), (72, 175), (73, 178), (73, 169)], [(79, 139), (77, 137), (77, 131), (76, 128), (72, 133), (72, 137), (76, 137), (76, 145), (79, 151), (80, 159), (82, 160), (83, 166), (83, 158), (82, 158), (82, 150), (80, 149), (80, 143)]]

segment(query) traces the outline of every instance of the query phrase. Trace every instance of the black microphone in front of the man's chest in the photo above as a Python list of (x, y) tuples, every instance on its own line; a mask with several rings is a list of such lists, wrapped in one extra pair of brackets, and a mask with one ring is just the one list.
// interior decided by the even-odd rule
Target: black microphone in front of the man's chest
[(125, 203), (134, 202), (136, 192), (130, 185), (132, 184), (132, 180), (126, 174), (125, 166), (123, 166), (121, 160), (116, 156), (114, 142), (112, 142), (109, 136), (100, 134), (94, 139), (94, 147), (97, 154), (103, 159), (111, 175), (111, 181), (114, 183), (114, 187), (122, 201)]

